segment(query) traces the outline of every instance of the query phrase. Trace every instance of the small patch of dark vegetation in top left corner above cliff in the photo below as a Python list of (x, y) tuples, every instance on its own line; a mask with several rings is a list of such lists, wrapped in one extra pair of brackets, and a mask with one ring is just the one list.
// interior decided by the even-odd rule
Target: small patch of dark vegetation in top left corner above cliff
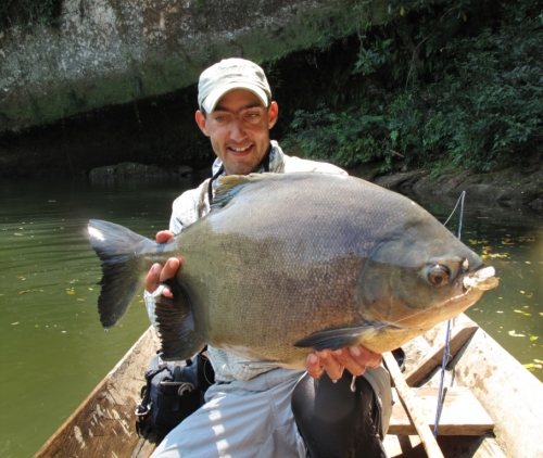
[(54, 26), (62, 0), (3, 0), (0, 2), (0, 30), (15, 25)]

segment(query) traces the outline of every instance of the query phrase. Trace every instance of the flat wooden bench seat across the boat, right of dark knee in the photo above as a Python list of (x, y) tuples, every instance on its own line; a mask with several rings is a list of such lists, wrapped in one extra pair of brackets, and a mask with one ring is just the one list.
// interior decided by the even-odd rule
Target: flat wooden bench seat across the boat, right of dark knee
[[(433, 431), (439, 389), (411, 389), (411, 392), (425, 423)], [(394, 400), (389, 434), (416, 434), (416, 429), (404, 407), (397, 398)], [(469, 389), (463, 386), (446, 390), (439, 424), (438, 435), (483, 435), (492, 432), (494, 428), (494, 422), (477, 397)]]

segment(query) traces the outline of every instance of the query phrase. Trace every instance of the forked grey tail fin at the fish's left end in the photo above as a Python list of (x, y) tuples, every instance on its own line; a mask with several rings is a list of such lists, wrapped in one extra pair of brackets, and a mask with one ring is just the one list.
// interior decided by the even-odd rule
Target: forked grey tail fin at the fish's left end
[(155, 243), (113, 222), (89, 220), (89, 241), (102, 260), (102, 287), (98, 298), (100, 322), (108, 329), (125, 315), (141, 288), (138, 254), (152, 251)]

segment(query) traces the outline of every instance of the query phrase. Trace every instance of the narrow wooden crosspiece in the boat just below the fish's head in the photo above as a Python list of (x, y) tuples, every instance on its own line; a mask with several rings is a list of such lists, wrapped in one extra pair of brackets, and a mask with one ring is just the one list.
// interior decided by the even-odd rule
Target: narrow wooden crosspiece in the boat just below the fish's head
[[(450, 355), (451, 359), (458, 353), (464, 344), (473, 335), (479, 326), (463, 315), (451, 331)], [(409, 386), (417, 386), (428, 374), (440, 367), (443, 360), (445, 341), (435, 343), (429, 353), (407, 373), (404, 374), (405, 382)]]

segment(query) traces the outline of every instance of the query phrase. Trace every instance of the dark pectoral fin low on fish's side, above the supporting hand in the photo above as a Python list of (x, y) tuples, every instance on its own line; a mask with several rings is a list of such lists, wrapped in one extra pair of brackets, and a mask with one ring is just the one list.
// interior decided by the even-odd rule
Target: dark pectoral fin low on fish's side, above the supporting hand
[(317, 331), (298, 341), (294, 346), (302, 348), (313, 348), (317, 352), (321, 349), (339, 349), (349, 346), (356, 346), (365, 339), (375, 334), (377, 327), (364, 325), (355, 328), (329, 329)]

